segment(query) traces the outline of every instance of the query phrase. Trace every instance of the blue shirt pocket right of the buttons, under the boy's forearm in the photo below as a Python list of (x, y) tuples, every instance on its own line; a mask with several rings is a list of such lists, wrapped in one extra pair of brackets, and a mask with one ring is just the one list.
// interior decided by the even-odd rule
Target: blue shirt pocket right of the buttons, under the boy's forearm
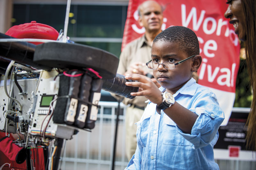
[(177, 131), (177, 126), (173, 122), (173, 120), (168, 117), (167, 115), (164, 115), (164, 138), (163, 138), (163, 144), (166, 145), (191, 145), (188, 140), (186, 140), (180, 133)]

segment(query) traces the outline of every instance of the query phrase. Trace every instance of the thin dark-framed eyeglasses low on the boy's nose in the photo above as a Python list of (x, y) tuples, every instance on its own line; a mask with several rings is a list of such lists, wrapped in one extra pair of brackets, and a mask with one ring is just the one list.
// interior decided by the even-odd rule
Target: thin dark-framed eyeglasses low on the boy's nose
[(180, 63), (182, 63), (182, 62), (184, 62), (184, 61), (186, 61), (186, 60), (188, 60), (192, 57), (195, 57), (195, 56), (196, 55), (192, 55), (192, 56), (186, 58), (185, 60), (181, 60), (180, 62), (177, 62), (177, 63), (173, 63), (173, 62), (169, 62), (169, 61), (165, 61), (163, 63), (158, 63), (158, 62), (150, 60), (146, 63), (146, 65), (148, 66), (149, 69), (155, 70), (159, 67), (160, 64), (162, 64), (165, 69), (171, 70), (171, 69), (174, 69), (176, 67), (176, 65), (178, 65), (178, 64), (180, 64)]

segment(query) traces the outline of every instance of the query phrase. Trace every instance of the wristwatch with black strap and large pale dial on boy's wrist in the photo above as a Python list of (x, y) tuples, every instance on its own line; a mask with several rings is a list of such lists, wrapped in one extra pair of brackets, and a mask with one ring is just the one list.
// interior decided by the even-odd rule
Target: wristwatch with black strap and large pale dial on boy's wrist
[(161, 110), (171, 107), (175, 103), (175, 99), (171, 93), (164, 91), (162, 94), (163, 102), (160, 105), (156, 105), (156, 111), (161, 115)]

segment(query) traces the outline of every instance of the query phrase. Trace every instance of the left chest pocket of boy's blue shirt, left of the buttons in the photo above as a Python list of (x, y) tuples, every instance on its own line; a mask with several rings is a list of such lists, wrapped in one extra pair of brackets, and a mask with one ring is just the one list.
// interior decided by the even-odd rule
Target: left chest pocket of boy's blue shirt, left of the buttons
[(137, 124), (136, 137), (137, 137), (137, 144), (139, 148), (145, 147), (147, 144), (148, 126), (149, 126), (150, 117), (151, 116), (136, 123)]

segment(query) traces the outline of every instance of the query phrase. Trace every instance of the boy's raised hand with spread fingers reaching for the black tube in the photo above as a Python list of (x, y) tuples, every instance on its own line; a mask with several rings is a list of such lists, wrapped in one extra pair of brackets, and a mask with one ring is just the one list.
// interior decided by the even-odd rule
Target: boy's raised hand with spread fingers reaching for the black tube
[(126, 75), (125, 78), (128, 80), (136, 80), (133, 82), (125, 82), (126, 86), (139, 87), (139, 91), (132, 92), (131, 96), (145, 96), (148, 100), (157, 105), (162, 103), (162, 92), (150, 78), (140, 74), (129, 74)]

